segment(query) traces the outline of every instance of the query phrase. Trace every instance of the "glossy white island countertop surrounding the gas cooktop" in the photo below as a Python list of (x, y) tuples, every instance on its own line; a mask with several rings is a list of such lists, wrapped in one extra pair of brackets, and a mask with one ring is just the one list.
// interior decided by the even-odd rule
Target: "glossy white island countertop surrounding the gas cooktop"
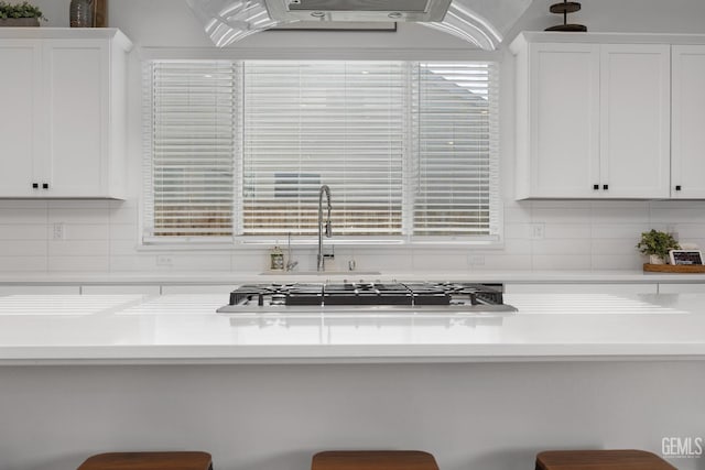
[(507, 294), (511, 314), (218, 314), (227, 295), (0, 297), (0, 364), (705, 359), (705, 294)]

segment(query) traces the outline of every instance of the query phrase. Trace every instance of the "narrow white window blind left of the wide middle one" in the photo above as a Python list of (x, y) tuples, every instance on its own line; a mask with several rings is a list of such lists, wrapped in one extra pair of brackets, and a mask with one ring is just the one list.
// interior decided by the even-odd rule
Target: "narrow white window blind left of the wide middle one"
[(236, 64), (152, 62), (145, 74), (145, 238), (231, 237)]

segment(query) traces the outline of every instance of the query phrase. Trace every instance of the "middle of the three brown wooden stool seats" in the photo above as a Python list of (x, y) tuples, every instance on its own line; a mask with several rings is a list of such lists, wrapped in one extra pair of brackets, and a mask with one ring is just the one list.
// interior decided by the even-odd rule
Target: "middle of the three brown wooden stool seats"
[(328, 450), (313, 456), (311, 470), (438, 470), (420, 450)]

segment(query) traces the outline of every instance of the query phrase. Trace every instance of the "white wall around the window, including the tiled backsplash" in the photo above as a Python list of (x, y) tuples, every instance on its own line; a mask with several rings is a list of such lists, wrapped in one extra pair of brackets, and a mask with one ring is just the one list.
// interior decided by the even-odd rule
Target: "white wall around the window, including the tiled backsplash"
[[(68, 24), (68, 0), (35, 0), (47, 25)], [(536, 0), (508, 34), (542, 30), (561, 21), (550, 14), (551, 0)], [(701, 0), (590, 0), (571, 18), (590, 31), (705, 33), (705, 2)], [(207, 47), (212, 45), (182, 0), (110, 0), (109, 25), (122, 29), (138, 45), (130, 73), (130, 194), (127, 201), (0, 200), (0, 273), (2, 272), (124, 272), (124, 271), (258, 271), (267, 266), (263, 249), (169, 253), (170, 265), (158, 265), (155, 252), (137, 251), (141, 163), (141, 47)], [(265, 32), (229, 51), (297, 51), (316, 48), (334, 55), (340, 47), (369, 51), (420, 51), (424, 54), (474, 55), (467, 44), (414, 24), (398, 33)], [(327, 51), (327, 52), (326, 52)], [(498, 250), (457, 248), (338, 248), (339, 262), (355, 258), (358, 269), (481, 272), (519, 269), (639, 269), (634, 250), (639, 233), (650, 228), (675, 230), (682, 241), (705, 247), (705, 203), (699, 201), (522, 201), (513, 197), (512, 58), (503, 50), (502, 141), (506, 245)], [(66, 240), (53, 240), (53, 223), (66, 225)], [(543, 225), (544, 239), (531, 239), (532, 225)], [(302, 269), (314, 254), (299, 249)]]

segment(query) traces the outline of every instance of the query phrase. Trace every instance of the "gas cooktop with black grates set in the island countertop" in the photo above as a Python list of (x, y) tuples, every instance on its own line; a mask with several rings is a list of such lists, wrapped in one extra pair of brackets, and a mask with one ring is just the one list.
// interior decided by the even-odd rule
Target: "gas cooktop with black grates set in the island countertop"
[(501, 285), (464, 282), (327, 282), (247, 284), (219, 313), (268, 311), (516, 311)]

